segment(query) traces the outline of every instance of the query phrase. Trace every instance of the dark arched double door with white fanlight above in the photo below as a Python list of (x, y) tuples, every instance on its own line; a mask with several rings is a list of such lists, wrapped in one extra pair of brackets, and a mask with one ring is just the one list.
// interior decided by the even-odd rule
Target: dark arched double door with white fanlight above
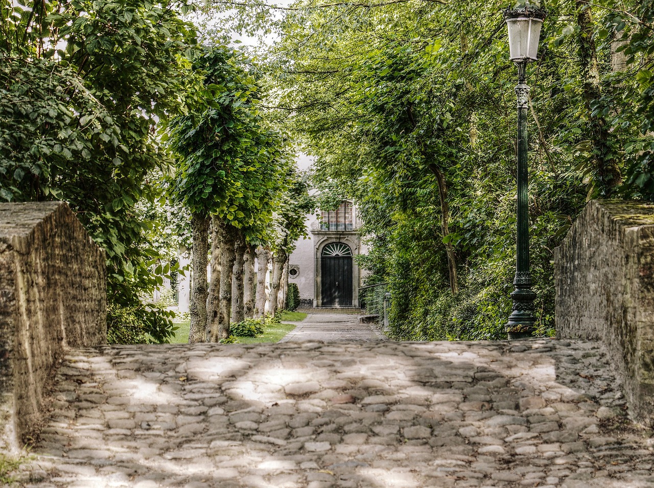
[(328, 244), (320, 256), (323, 307), (352, 306), (352, 249), (342, 242)]

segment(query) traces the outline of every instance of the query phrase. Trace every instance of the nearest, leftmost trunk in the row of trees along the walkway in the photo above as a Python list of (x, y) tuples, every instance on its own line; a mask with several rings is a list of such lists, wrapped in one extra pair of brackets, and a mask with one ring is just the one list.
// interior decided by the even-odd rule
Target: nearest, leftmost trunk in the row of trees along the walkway
[(205, 324), (207, 323), (207, 251), (209, 248), (209, 218), (194, 213), (191, 215), (191, 232), (193, 237), (193, 275), (191, 304), (188, 313), (191, 326), (188, 331), (188, 343), (205, 341)]

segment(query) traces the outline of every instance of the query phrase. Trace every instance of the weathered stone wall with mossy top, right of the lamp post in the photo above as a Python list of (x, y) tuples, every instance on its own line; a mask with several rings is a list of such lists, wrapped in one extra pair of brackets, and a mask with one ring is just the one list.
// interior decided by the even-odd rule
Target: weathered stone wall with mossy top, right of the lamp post
[(602, 340), (654, 419), (654, 204), (591, 201), (555, 252), (557, 335)]

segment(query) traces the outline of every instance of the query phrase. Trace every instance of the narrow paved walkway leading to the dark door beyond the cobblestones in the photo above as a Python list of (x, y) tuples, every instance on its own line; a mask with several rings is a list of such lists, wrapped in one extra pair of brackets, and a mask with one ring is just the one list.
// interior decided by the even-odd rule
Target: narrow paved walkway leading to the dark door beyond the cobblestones
[(310, 312), (302, 322), (296, 324), (280, 342), (306, 340), (317, 341), (383, 341), (386, 336), (376, 324), (360, 324), (359, 316), (353, 313)]

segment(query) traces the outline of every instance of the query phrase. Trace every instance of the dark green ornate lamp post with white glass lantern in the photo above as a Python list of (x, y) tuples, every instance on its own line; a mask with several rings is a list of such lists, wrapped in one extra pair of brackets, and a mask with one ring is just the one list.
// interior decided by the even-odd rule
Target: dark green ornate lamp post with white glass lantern
[(509, 58), (518, 68), (518, 84), (515, 94), (518, 99), (518, 208), (517, 208), (517, 262), (511, 293), (513, 311), (506, 324), (509, 339), (532, 336), (534, 332), (534, 300), (529, 271), (529, 197), (527, 173), (527, 97), (526, 66), (536, 61), (540, 28), (545, 18), (545, 10), (540, 7), (519, 7), (504, 10), (504, 18), (509, 30)]

